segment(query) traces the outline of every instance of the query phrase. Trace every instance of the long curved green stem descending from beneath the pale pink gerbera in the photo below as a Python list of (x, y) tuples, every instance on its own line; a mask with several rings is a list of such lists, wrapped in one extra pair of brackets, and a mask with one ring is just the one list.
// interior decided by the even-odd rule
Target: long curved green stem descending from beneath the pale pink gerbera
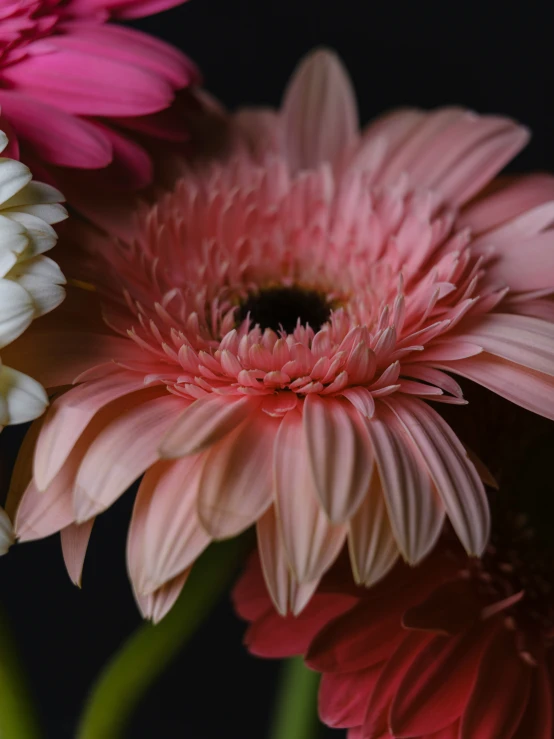
[(119, 739), (146, 690), (186, 643), (228, 584), (241, 539), (213, 544), (196, 563), (183, 592), (156, 626), (144, 624), (104, 669), (81, 717), (77, 739)]

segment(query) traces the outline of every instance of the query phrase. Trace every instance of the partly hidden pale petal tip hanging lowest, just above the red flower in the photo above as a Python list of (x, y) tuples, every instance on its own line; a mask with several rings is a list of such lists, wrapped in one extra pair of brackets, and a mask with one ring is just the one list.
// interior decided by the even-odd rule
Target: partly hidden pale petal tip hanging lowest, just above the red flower
[(297, 583), (293, 577), (279, 531), (275, 508), (269, 508), (256, 526), (258, 551), (267, 589), (275, 608), (286, 616), (289, 609), (299, 614), (319, 584), (319, 579)]

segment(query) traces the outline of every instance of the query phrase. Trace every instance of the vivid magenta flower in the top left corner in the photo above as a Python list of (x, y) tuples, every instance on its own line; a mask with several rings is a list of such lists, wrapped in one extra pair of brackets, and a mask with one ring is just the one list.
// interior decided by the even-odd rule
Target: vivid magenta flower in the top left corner
[(6, 121), (11, 124), (26, 161), (47, 169), (95, 170), (114, 163), (120, 178), (123, 171), (138, 187), (148, 183), (150, 158), (128, 134), (184, 135), (160, 111), (171, 105), (176, 90), (198, 79), (197, 72), (162, 41), (106, 21), (148, 15), (180, 1), (2, 3), (3, 127)]

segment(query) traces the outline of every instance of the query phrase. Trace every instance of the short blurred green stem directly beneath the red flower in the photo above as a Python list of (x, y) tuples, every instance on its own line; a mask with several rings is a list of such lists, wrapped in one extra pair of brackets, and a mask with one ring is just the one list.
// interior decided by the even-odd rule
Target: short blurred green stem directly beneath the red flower
[(283, 665), (271, 739), (315, 739), (320, 728), (318, 686), (319, 675), (309, 670), (301, 657), (287, 660)]

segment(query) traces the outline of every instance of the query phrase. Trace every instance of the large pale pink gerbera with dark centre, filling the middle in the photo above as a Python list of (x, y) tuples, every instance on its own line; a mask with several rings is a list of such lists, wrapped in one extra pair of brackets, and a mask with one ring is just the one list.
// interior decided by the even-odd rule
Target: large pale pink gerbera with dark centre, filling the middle
[(62, 530), (78, 578), (94, 517), (145, 473), (128, 561), (154, 617), (254, 523), (281, 612), (346, 540), (367, 586), (425, 557), (445, 516), (480, 554), (483, 484), (428, 401), (465, 402), (454, 372), (554, 417), (554, 180), (479, 195), (524, 128), (447, 108), (360, 134), (327, 52), (280, 113), (231, 128), (230, 155), (122, 238), (80, 230), (64, 269), (87, 289), (20, 345), (23, 365), (58, 347), (40, 379), (76, 386), (38, 434), (19, 538)]

